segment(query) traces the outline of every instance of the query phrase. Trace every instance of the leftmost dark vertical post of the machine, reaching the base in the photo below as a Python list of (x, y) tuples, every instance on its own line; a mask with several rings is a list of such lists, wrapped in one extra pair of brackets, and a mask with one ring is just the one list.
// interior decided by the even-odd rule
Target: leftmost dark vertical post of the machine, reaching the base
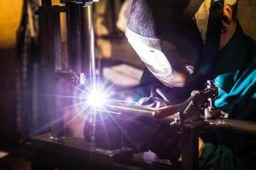
[(63, 99), (58, 95), (62, 94), (63, 81), (55, 74), (56, 70), (62, 69), (61, 58), (61, 24), (60, 14), (51, 10), (51, 0), (42, 0), (39, 10), (39, 38), (41, 49), (41, 62), (47, 65), (45, 68), (45, 94), (55, 97), (47, 97), (47, 112), (51, 117), (51, 133), (55, 138), (64, 135), (63, 133)]

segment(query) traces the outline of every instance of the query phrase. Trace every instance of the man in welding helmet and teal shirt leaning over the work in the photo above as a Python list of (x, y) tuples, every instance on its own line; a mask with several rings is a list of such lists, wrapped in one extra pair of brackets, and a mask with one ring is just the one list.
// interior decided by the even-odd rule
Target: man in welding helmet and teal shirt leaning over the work
[[(181, 103), (214, 79), (215, 106), (230, 118), (255, 122), (256, 43), (243, 33), (236, 12), (237, 0), (134, 0), (125, 35), (147, 66), (141, 82), (151, 82), (140, 103)], [(175, 130), (145, 126), (154, 134), (144, 150), (175, 161)], [(255, 142), (226, 141), (201, 144), (200, 169), (256, 169)]]

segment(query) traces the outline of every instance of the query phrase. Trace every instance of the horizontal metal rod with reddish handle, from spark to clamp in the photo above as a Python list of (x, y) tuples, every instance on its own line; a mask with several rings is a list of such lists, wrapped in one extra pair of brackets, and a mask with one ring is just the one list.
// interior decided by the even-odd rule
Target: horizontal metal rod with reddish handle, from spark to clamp
[(193, 91), (189, 99), (181, 104), (152, 108), (143, 105), (123, 102), (109, 102), (104, 105), (108, 111), (129, 114), (141, 119), (151, 119), (151, 122), (172, 122), (173, 116), (179, 116), (181, 122), (193, 122), (201, 118), (201, 107), (205, 107), (207, 99), (218, 93), (216, 88), (206, 88), (203, 91)]

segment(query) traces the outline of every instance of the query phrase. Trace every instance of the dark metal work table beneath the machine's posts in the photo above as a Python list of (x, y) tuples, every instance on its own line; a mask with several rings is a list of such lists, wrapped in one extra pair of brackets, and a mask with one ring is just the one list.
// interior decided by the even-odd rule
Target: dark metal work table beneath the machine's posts
[(49, 169), (176, 169), (156, 162), (142, 161), (133, 158), (133, 150), (122, 148), (113, 152), (96, 149), (88, 145), (84, 139), (67, 137), (50, 139), (46, 133), (33, 137), (26, 144), (26, 156), (32, 162), (32, 170)]

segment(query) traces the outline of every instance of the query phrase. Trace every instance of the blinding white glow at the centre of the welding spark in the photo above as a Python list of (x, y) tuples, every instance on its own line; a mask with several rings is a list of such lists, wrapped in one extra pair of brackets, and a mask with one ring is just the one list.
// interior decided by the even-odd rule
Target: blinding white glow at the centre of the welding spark
[(102, 107), (106, 101), (106, 95), (98, 89), (94, 89), (88, 96), (87, 103), (92, 107)]

